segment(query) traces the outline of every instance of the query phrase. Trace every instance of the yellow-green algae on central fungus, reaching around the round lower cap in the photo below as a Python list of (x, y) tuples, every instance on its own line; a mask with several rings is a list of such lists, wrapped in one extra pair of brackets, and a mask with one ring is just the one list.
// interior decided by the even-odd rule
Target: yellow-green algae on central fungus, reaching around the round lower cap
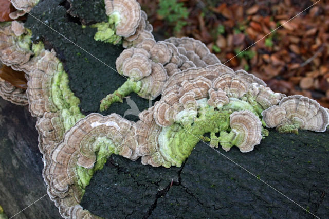
[[(171, 166), (180, 167), (182, 162), (191, 154), (199, 139), (207, 140), (207, 137), (204, 137), (206, 133), (210, 133), (210, 145), (213, 147), (218, 147), (218, 143), (229, 148), (237, 145), (241, 141), (241, 136), (235, 135), (233, 132), (227, 133), (227, 131), (231, 131), (229, 126), (230, 115), (234, 111), (247, 109), (258, 116), (256, 110), (246, 101), (230, 98), (230, 103), (223, 106), (221, 111), (218, 111), (213, 106), (209, 106), (207, 100), (204, 98), (197, 101), (199, 105), (198, 112), (193, 123), (186, 123), (189, 119), (185, 119), (184, 114), (186, 117), (189, 117), (189, 115), (184, 109), (180, 112), (183, 114), (180, 117), (180, 124), (174, 123), (171, 126), (163, 127), (158, 137), (162, 156), (156, 156), (158, 158), (156, 161), (161, 163), (162, 166), (167, 168)], [(217, 137), (216, 133), (220, 133), (220, 137)], [(224, 135), (224, 133), (227, 135)], [(267, 136), (268, 131), (263, 129), (262, 134)], [(227, 139), (231, 140), (229, 145)]]

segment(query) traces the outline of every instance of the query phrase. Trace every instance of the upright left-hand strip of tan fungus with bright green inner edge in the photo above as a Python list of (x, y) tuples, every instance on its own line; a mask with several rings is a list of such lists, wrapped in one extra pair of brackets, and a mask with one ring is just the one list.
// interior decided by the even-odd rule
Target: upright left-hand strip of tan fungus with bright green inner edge
[[(68, 75), (54, 51), (44, 50), (42, 44), (32, 46), (41, 54), (28, 81), (28, 97), (32, 115), (42, 116), (45, 112), (59, 112), (65, 131), (84, 116), (79, 109), (80, 100), (68, 86)], [(41, 99), (40, 99), (41, 98)]]

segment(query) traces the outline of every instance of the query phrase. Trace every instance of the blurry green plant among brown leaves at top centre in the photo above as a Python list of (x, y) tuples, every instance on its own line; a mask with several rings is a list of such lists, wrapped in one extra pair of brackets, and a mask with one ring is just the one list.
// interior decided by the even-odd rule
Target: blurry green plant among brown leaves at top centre
[(184, 3), (177, 2), (177, 0), (160, 0), (159, 9), (157, 10), (159, 16), (168, 21), (170, 25), (174, 26), (174, 32), (187, 25), (184, 19), (189, 16), (189, 11), (184, 7)]

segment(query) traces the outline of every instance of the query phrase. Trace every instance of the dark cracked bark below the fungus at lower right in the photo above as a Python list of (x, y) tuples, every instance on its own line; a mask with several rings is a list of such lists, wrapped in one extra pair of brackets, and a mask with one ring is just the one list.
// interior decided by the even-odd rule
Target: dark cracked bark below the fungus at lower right
[[(279, 134), (271, 130), (270, 135), (250, 153), (243, 154), (237, 148), (231, 149), (230, 152), (217, 150), (304, 208), (309, 209), (310, 212), (319, 217), (325, 217), (329, 211), (329, 198), (326, 195), (329, 190), (327, 186), (329, 176), (326, 174), (329, 169), (329, 161), (326, 159), (329, 155), (329, 145), (326, 145), (326, 142), (329, 142), (329, 131), (325, 133), (301, 131), (300, 135), (294, 135)], [(158, 170), (158, 168), (143, 166), (140, 160), (134, 162), (117, 156), (113, 157), (117, 160), (116, 162), (120, 160), (120, 167), (128, 168), (125, 174), (136, 175), (144, 170), (143, 176), (136, 179), (143, 181), (140, 182), (143, 185), (147, 183), (145, 178), (152, 178), (160, 172), (163, 174), (172, 171), (172, 168)], [(202, 142), (196, 145), (183, 167), (173, 169), (176, 170), (174, 174), (178, 180), (173, 182), (172, 187), (168, 188), (171, 184), (171, 178), (168, 179), (168, 177), (161, 178), (160, 184), (163, 182), (167, 185), (165, 189), (160, 190), (158, 186), (150, 187), (155, 191), (151, 196), (152, 202), (149, 204), (144, 202), (145, 206), (143, 204), (148, 210), (146, 214), (138, 214), (136, 209), (141, 208), (140, 205), (119, 203), (120, 208), (133, 208), (134, 213), (129, 216), (127, 214), (115, 215), (119, 218), (126, 216), (130, 218), (192, 216), (313, 218), (311, 214)], [(101, 177), (118, 177), (112, 175), (109, 170), (101, 172)], [(92, 178), (84, 196), (84, 199), (87, 198), (93, 204), (89, 203), (89, 206), (84, 207), (93, 212), (90, 207), (95, 206), (98, 215), (108, 217), (108, 214), (105, 214), (105, 211), (108, 211), (107, 207), (103, 208), (100, 203), (113, 202), (117, 198), (121, 200), (123, 197), (118, 197), (116, 188), (113, 193), (107, 193), (107, 199), (96, 196), (95, 193), (103, 192), (101, 188), (98, 188), (99, 185), (95, 184), (100, 180), (98, 174), (97, 172)], [(107, 188), (108, 183), (104, 183), (102, 187)], [(136, 193), (131, 191), (129, 197), (132, 200), (129, 202), (135, 203), (137, 196), (140, 199), (144, 197), (142, 192), (138, 191), (138, 187), (132, 187)], [(94, 196), (90, 196), (91, 193)], [(115, 212), (116, 209), (112, 210)]]

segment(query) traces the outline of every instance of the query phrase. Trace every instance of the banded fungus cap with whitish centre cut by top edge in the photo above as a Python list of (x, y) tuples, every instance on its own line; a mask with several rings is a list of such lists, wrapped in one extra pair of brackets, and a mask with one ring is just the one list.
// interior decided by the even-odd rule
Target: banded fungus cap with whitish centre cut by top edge
[(135, 0), (105, 0), (106, 15), (115, 17), (116, 34), (128, 37), (136, 32), (141, 20), (140, 5)]

